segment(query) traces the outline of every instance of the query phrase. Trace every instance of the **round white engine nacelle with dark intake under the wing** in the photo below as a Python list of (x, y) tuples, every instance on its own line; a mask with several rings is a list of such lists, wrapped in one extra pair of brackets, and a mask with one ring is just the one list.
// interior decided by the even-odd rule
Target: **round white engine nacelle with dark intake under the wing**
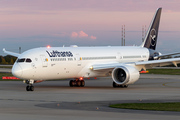
[(113, 81), (118, 85), (128, 85), (133, 84), (139, 79), (139, 71), (129, 65), (123, 65), (114, 68), (112, 71)]

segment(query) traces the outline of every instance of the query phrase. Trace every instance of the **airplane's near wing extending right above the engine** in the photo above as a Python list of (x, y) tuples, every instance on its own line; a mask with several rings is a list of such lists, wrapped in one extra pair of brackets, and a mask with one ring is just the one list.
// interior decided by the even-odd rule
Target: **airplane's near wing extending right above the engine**
[(94, 64), (90, 67), (91, 70), (105, 70), (113, 69), (118, 66), (123, 65), (133, 65), (136, 68), (152, 68), (156, 66), (165, 66), (174, 64), (177, 67), (177, 64), (180, 63), (180, 58), (171, 58), (171, 59), (162, 59), (162, 60), (151, 60), (151, 61), (141, 61), (141, 62), (131, 62), (131, 63), (107, 63), (107, 64)]

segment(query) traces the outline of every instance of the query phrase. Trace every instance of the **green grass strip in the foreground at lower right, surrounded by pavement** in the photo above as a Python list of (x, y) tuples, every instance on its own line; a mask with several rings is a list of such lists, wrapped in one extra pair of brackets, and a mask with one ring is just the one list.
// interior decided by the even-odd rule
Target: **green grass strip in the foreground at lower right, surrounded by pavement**
[(134, 109), (134, 110), (153, 110), (153, 111), (180, 111), (180, 103), (123, 103), (110, 105), (112, 108)]

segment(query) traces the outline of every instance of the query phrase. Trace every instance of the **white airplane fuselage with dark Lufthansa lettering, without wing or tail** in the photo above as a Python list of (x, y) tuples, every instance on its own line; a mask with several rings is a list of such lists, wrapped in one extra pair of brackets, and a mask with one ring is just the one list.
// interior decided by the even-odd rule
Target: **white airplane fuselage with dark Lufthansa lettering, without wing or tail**
[(35, 48), (22, 53), (12, 73), (25, 80), (52, 80), (108, 76), (109, 70), (93, 71), (93, 64), (148, 61), (143, 47), (52, 47)]

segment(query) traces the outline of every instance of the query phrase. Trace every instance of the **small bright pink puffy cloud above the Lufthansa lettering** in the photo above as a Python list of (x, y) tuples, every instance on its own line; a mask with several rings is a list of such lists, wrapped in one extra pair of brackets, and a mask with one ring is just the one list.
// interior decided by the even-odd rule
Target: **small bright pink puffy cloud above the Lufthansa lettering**
[(72, 38), (89, 38), (89, 39), (92, 39), (92, 40), (97, 39), (97, 37), (95, 37), (95, 36), (93, 36), (93, 35), (91, 35), (91, 36), (89, 37), (89, 35), (88, 35), (87, 33), (83, 32), (83, 31), (72, 32), (72, 33), (71, 33), (71, 37), (72, 37)]

